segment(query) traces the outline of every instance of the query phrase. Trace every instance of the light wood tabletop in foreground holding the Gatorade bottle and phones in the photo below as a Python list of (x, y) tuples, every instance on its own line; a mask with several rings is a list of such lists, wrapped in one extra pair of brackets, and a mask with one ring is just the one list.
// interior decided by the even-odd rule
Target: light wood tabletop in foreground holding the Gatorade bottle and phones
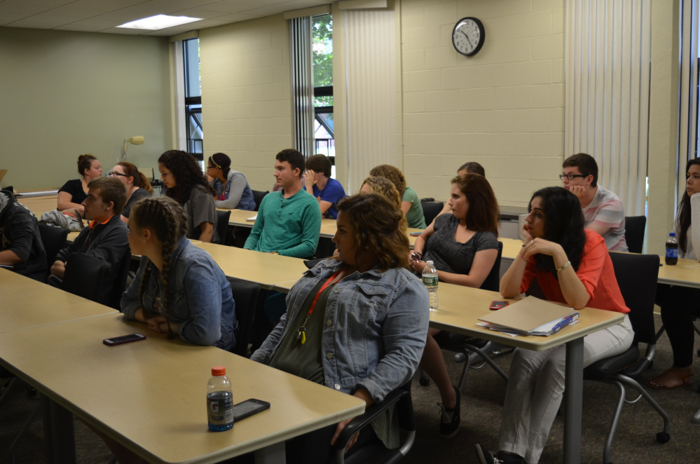
[[(133, 332), (146, 340), (102, 344)], [(364, 411), (351, 395), (219, 348), (168, 340), (122, 315), (0, 334), (0, 363), (151, 463), (214, 463)], [(226, 367), (234, 403), (257, 398), (270, 409), (210, 432), (205, 393), (217, 365)]]

